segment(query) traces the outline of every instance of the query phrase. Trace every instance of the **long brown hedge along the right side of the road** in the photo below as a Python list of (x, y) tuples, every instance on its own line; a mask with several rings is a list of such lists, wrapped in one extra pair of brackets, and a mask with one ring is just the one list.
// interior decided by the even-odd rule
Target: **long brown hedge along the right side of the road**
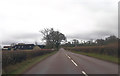
[(66, 50), (118, 56), (118, 45), (66, 47)]

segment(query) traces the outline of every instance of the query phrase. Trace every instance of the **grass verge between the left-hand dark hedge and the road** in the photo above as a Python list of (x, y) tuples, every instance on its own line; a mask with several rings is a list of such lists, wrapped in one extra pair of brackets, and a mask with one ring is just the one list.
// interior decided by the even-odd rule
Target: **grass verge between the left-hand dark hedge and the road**
[(57, 51), (49, 53), (49, 54), (45, 54), (42, 56), (38, 56), (32, 59), (27, 59), (26, 61), (23, 61), (21, 63), (17, 63), (15, 65), (10, 65), (6, 68), (4, 68), (7, 72), (4, 72), (4, 69), (2, 70), (3, 73), (2, 74), (22, 74), (25, 71), (27, 71), (28, 69), (30, 69), (32, 66), (34, 66), (35, 64), (39, 63), (40, 61), (44, 60), (45, 58), (55, 54)]

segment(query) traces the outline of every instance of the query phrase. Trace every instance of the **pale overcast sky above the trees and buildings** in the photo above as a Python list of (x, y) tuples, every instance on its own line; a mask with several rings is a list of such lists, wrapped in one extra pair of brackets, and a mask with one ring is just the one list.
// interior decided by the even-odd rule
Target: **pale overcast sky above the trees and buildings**
[(40, 30), (54, 28), (89, 40), (118, 34), (119, 0), (0, 0), (0, 41), (41, 43)]

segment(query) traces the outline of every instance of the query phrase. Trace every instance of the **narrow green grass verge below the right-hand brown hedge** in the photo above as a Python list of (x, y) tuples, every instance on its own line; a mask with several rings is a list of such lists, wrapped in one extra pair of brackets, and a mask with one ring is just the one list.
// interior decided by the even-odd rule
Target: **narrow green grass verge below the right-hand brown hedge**
[(119, 60), (117, 57), (114, 56), (109, 56), (109, 55), (103, 55), (103, 54), (96, 54), (96, 53), (85, 53), (85, 52), (79, 52), (79, 51), (71, 51), (73, 53), (78, 53), (78, 54), (82, 54), (82, 55), (86, 55), (86, 56), (90, 56), (90, 57), (94, 57), (94, 58), (98, 58), (101, 60), (105, 60), (105, 61), (109, 61), (109, 62), (113, 62), (113, 63), (119, 63)]

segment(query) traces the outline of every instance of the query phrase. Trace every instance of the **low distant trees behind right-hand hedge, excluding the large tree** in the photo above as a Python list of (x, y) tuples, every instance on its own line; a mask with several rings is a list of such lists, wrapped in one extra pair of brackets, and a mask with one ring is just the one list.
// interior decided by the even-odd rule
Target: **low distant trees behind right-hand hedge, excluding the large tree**
[(112, 43), (117, 43), (119, 41), (119, 38), (117, 38), (114, 35), (111, 35), (105, 39), (96, 39), (96, 40), (89, 40), (89, 41), (82, 41), (79, 42), (78, 39), (73, 39), (71, 42), (67, 42), (62, 46), (65, 47), (75, 47), (75, 46), (102, 46)]

